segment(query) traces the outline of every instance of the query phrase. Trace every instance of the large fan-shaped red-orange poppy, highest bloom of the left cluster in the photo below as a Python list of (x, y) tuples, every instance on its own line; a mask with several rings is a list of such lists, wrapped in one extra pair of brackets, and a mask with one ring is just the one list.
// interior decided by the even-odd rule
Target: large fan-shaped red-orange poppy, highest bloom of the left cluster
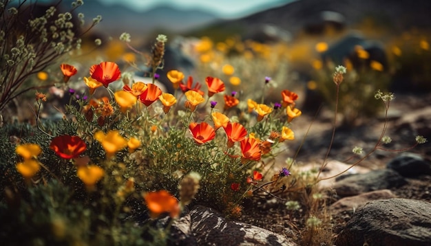
[(107, 87), (109, 83), (120, 78), (121, 72), (116, 63), (103, 62), (99, 65), (92, 65), (92, 67), (90, 67), (90, 76), (98, 82), (101, 82), (104, 87)]

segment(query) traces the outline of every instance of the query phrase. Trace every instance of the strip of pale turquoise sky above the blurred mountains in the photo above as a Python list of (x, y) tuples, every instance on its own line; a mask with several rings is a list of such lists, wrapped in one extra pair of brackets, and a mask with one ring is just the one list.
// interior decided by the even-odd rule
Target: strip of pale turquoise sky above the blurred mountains
[(123, 4), (134, 10), (148, 10), (157, 5), (172, 5), (182, 9), (204, 9), (225, 18), (244, 16), (277, 7), (295, 0), (98, 0), (107, 5)]

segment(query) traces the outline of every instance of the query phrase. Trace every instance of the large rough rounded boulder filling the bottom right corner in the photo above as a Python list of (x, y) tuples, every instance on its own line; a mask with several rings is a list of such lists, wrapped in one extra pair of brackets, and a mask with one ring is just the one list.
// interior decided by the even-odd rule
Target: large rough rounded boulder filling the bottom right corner
[(431, 245), (431, 204), (399, 198), (367, 203), (348, 221), (335, 245)]

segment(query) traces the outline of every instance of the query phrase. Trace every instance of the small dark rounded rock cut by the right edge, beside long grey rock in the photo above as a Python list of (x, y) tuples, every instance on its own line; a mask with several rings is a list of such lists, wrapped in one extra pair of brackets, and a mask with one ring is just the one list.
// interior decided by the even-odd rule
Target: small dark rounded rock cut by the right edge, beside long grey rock
[(431, 164), (414, 153), (402, 153), (391, 159), (387, 168), (396, 170), (403, 177), (417, 177), (419, 175), (431, 175)]

